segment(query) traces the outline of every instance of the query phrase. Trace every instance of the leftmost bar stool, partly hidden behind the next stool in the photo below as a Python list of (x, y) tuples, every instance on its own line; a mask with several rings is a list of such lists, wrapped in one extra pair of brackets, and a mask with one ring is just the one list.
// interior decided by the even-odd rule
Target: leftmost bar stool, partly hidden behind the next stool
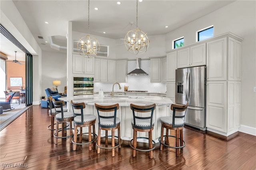
[[(52, 96), (47, 97), (47, 98), (46, 98), (46, 101), (48, 102), (49, 107), (50, 107), (50, 110), (49, 110), (48, 112), (49, 112), (49, 116), (51, 117), (51, 125), (49, 125), (49, 126), (47, 127), (47, 129), (48, 129), (48, 130), (51, 130), (51, 136), (53, 136), (53, 131), (56, 130), (56, 129), (54, 128), (54, 125), (56, 125), (56, 123), (54, 123), (55, 115), (56, 115), (57, 113), (60, 113), (60, 112), (61, 112), (61, 109), (60, 109), (60, 107), (55, 108), (55, 107), (52, 106)], [(67, 108), (63, 108), (63, 111), (64, 111), (64, 112), (67, 112), (68, 109), (67, 109)], [(67, 124), (67, 126), (68, 126), (68, 124)]]

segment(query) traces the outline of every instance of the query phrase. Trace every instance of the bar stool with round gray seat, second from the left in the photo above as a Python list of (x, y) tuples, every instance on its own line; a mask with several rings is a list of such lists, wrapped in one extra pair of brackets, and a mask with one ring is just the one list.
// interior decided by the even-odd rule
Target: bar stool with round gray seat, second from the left
[[(60, 113), (55, 115), (56, 119), (56, 130), (54, 133), (55, 137), (55, 144), (58, 144), (58, 138), (70, 138), (70, 143), (72, 143), (72, 137), (74, 136), (72, 132), (72, 121), (74, 121), (74, 113), (73, 112), (64, 112), (63, 106), (65, 105), (64, 101), (55, 101), (52, 99), (52, 103), (54, 104), (55, 108), (60, 108)], [(59, 124), (62, 123), (62, 128), (59, 129)], [(70, 128), (64, 128), (66, 123), (69, 123)], [(63, 125), (64, 124), (64, 125)], [(66, 130), (70, 131), (70, 135), (66, 136)], [(62, 136), (58, 135), (58, 132), (62, 131)]]

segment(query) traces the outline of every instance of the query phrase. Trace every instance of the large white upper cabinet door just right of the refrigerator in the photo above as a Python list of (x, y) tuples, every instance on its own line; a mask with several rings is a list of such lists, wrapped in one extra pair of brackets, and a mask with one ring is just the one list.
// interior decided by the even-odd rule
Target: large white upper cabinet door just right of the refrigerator
[(227, 37), (206, 43), (206, 80), (226, 80)]

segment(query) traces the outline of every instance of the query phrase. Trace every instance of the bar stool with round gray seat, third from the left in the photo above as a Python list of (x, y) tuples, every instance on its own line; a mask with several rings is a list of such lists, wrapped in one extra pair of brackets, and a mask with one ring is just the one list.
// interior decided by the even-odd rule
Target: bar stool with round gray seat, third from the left
[[(85, 104), (82, 103), (74, 103), (71, 101), (71, 105), (73, 108), (74, 113), (74, 137), (72, 138), (73, 142), (73, 150), (76, 150), (76, 145), (84, 145), (89, 144), (89, 150), (92, 150), (92, 142), (96, 142), (97, 140), (97, 134), (95, 133), (95, 122), (96, 122), (96, 116), (94, 115), (84, 115), (83, 109), (85, 108)], [(80, 110), (80, 113), (75, 113), (74, 110)], [(78, 127), (80, 127), (80, 134), (79, 134), (79, 143), (77, 143), (77, 132)], [(82, 127), (88, 127), (88, 132), (83, 133)], [(82, 135), (88, 134), (88, 142), (82, 143)], [(92, 140), (92, 134), (93, 134), (93, 140)]]

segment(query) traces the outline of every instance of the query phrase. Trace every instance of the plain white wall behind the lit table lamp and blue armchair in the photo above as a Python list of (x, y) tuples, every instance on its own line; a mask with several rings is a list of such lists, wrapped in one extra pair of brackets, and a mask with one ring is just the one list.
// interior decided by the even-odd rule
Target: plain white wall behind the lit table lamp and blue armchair
[(43, 51), (42, 65), (42, 96), (46, 97), (46, 88), (55, 87), (52, 85), (53, 80), (61, 81), (61, 85), (58, 86), (58, 91), (63, 93), (64, 87), (67, 85), (67, 54)]

